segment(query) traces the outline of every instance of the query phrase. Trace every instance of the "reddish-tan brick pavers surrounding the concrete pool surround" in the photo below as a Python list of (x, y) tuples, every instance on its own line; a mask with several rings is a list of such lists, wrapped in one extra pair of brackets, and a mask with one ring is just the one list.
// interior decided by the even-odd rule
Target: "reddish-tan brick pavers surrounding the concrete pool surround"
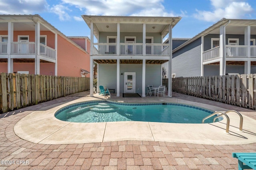
[[(249, 145), (197, 145), (154, 141), (117, 141), (72, 145), (42, 145), (20, 139), (14, 125), (32, 111), (68, 102), (77, 94), (0, 115), (0, 170), (237, 170), (232, 152), (256, 152)], [(175, 98), (227, 106), (218, 102), (176, 94)], [(230, 106), (232, 107), (232, 106)], [(246, 110), (246, 109), (244, 109)], [(250, 111), (250, 110), (248, 110)], [(249, 115), (255, 117), (254, 114)]]

